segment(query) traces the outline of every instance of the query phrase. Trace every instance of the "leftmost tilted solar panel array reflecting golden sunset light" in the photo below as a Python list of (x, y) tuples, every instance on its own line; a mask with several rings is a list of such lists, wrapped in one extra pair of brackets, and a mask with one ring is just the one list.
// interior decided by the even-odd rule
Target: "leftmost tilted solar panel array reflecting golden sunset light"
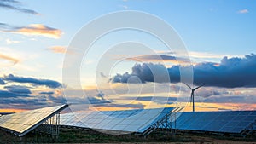
[(32, 111), (3, 115), (0, 117), (0, 127), (3, 130), (11, 131), (15, 135), (23, 136), (29, 131), (36, 129), (40, 124), (59, 124), (59, 119), (55, 118), (55, 115), (66, 107), (67, 105), (45, 107)]

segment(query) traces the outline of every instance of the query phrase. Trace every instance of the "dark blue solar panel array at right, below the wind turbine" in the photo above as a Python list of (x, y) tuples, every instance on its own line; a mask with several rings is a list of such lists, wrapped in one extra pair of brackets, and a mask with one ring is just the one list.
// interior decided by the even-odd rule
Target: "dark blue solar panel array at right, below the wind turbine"
[(255, 120), (256, 111), (183, 112), (177, 118), (176, 129), (241, 133)]

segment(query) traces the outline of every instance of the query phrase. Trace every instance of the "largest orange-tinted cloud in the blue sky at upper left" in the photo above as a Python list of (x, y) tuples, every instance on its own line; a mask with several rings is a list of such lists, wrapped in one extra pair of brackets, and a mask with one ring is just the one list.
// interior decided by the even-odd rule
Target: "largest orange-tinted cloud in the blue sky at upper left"
[(24, 27), (16, 27), (13, 30), (5, 32), (19, 33), (22, 35), (43, 36), (50, 38), (60, 38), (62, 34), (61, 30), (49, 26), (44, 26), (42, 24), (32, 24)]

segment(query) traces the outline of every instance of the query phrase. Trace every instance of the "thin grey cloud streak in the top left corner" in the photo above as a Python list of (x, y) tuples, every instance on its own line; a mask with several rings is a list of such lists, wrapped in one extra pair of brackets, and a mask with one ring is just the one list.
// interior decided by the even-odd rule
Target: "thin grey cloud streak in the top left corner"
[(32, 10), (32, 9), (20, 8), (21, 4), (22, 3), (20, 3), (19, 1), (15, 1), (15, 0), (1, 0), (0, 8), (12, 9), (12, 10), (19, 11), (21, 13), (26, 13), (26, 14), (39, 14), (38, 12), (36, 12), (35, 10)]

